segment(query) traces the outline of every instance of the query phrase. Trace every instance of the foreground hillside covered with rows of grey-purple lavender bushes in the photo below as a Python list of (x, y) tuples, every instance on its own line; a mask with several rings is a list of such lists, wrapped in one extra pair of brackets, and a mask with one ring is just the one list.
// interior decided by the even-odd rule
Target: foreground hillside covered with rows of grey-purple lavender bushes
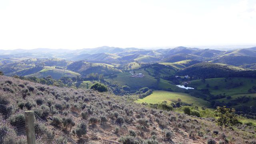
[[(24, 122), (26, 110), (36, 113), (37, 143), (47, 143), (45, 140), (65, 143), (66, 137), (60, 132), (78, 144), (101, 144), (105, 140), (124, 144), (134, 141), (136, 144), (205, 144), (210, 138), (228, 140), (232, 144), (253, 142), (254, 137), (237, 128), (236, 131), (219, 128), (212, 119), (159, 111), (124, 97), (93, 90), (51, 87), (0, 76), (0, 94), (0, 104), (3, 104), (0, 110), (8, 110), (8, 113), (0, 113), (0, 129), (6, 131), (0, 135), (4, 143), (10, 140), (26, 142), (24, 133), (16, 133), (24, 130), (25, 125), (17, 122)], [(77, 137), (82, 122), (87, 134)]]

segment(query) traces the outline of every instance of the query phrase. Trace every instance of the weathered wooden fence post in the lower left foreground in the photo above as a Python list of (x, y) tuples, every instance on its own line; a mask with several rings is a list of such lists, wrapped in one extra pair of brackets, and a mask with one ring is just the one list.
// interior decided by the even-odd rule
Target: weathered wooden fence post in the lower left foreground
[(28, 144), (36, 144), (36, 135), (34, 128), (34, 111), (25, 112), (26, 135)]

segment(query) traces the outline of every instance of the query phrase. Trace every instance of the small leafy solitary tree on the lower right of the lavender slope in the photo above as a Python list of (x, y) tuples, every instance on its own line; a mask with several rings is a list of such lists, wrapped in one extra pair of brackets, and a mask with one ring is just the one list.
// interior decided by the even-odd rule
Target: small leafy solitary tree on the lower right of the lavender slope
[(226, 108), (226, 106), (220, 107), (218, 106), (215, 110), (218, 126), (224, 126), (225, 128), (228, 126), (234, 126), (239, 123), (238, 117), (234, 113), (236, 110), (234, 108)]

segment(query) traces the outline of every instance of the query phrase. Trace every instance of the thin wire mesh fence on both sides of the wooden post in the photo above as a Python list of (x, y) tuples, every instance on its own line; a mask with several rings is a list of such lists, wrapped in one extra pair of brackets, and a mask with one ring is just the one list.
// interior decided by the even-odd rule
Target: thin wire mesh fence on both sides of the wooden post
[[(24, 111), (0, 104), (0, 144), (26, 144)], [(34, 113), (36, 144), (77, 144), (62, 131)]]

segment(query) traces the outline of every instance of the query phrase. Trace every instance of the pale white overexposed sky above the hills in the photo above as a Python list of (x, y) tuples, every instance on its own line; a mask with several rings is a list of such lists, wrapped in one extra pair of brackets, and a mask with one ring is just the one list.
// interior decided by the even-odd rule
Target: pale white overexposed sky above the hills
[(256, 44), (256, 0), (0, 0), (0, 49)]

